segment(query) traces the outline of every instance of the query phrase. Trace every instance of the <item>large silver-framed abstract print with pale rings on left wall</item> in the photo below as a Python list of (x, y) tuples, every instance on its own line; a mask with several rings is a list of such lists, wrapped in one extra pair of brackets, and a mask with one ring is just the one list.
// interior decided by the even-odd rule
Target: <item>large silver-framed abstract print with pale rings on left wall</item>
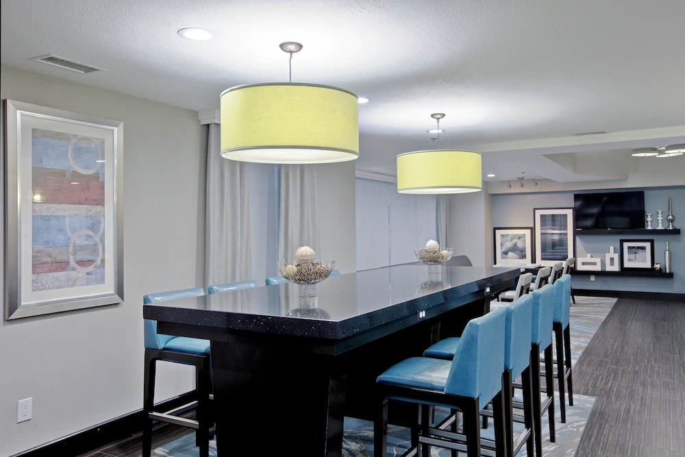
[(123, 122), (5, 99), (5, 319), (123, 301)]

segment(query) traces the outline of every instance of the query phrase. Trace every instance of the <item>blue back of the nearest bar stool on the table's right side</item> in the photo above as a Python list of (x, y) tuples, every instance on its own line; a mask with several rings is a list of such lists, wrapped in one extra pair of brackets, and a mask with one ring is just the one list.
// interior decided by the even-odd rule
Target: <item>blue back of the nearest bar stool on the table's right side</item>
[(505, 323), (506, 310), (502, 307), (466, 324), (445, 393), (478, 398), (481, 409), (497, 395), (504, 371)]

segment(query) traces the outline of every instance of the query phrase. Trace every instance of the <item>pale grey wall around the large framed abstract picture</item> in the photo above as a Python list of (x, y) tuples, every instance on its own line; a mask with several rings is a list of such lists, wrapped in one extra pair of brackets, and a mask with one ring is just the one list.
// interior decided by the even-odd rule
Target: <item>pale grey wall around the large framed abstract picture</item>
[[(0, 455), (8, 456), (142, 407), (142, 295), (205, 285), (205, 162), (194, 111), (8, 66), (0, 96), (118, 119), (124, 132), (125, 301), (1, 321)], [(160, 375), (161, 397), (192, 386), (188, 370)], [(33, 419), (16, 423), (16, 402), (27, 397)]]

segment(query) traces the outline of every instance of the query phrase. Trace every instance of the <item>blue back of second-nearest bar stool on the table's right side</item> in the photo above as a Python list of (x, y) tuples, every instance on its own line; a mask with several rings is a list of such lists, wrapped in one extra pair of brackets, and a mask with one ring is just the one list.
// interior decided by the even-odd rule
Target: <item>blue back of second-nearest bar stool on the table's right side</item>
[(530, 336), (533, 330), (533, 297), (523, 295), (506, 309), (504, 368), (511, 370), (512, 381), (530, 365)]

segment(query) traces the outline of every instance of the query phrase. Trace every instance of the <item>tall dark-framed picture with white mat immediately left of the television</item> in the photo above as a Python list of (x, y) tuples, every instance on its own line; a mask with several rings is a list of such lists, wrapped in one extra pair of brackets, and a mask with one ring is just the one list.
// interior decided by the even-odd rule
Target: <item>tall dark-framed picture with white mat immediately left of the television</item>
[(575, 257), (575, 234), (573, 232), (573, 208), (534, 208), (536, 263), (553, 267)]

